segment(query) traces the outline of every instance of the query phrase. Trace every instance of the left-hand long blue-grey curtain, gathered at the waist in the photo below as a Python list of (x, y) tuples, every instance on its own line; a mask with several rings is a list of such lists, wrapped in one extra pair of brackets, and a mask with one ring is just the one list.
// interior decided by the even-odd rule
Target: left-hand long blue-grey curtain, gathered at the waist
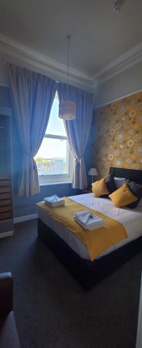
[(39, 193), (33, 159), (44, 138), (57, 89), (52, 79), (8, 63), (13, 115), (23, 148), (19, 196)]

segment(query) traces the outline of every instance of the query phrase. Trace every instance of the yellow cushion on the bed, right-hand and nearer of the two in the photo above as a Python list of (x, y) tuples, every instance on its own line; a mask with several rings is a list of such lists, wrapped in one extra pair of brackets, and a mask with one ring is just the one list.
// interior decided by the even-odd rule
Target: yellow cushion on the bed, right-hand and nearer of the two
[(132, 202), (135, 202), (138, 198), (130, 191), (127, 184), (123, 184), (120, 189), (114, 191), (109, 195), (109, 198), (112, 199), (115, 207), (121, 208), (125, 207)]

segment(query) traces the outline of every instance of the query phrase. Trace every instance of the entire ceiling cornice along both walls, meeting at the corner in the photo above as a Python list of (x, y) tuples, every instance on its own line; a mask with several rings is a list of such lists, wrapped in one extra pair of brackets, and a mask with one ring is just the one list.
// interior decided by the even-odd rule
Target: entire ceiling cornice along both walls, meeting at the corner
[[(21, 64), (27, 63), (33, 68), (44, 70), (46, 74), (53, 75), (58, 81), (66, 81), (66, 65), (57, 63), (57, 61), (21, 45), (19, 42), (8, 38), (2, 33), (0, 33), (0, 51), (17, 58)], [(75, 86), (80, 86), (81, 88), (93, 92), (98, 84), (103, 84), (103, 82), (127, 70), (127, 68), (132, 67), (132, 65), (139, 63), (139, 61), (142, 61), (142, 42), (116, 58), (112, 63), (109, 63), (105, 68), (99, 70), (92, 76), (70, 68), (70, 82)]]

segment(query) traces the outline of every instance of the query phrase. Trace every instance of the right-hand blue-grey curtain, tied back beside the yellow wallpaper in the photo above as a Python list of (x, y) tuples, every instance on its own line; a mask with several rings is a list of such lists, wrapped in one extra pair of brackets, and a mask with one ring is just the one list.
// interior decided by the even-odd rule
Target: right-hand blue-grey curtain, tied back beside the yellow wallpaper
[(67, 84), (58, 84), (57, 92), (60, 100), (76, 102), (76, 120), (64, 121), (64, 125), (74, 157), (72, 187), (74, 189), (85, 189), (87, 187), (87, 175), (84, 153), (91, 129), (93, 95)]

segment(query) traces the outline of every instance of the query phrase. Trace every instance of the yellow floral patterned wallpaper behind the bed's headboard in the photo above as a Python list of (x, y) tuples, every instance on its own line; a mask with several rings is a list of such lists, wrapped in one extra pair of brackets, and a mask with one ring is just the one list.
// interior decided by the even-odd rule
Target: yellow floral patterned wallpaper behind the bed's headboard
[(142, 92), (95, 113), (94, 164), (101, 176), (110, 166), (142, 170)]

